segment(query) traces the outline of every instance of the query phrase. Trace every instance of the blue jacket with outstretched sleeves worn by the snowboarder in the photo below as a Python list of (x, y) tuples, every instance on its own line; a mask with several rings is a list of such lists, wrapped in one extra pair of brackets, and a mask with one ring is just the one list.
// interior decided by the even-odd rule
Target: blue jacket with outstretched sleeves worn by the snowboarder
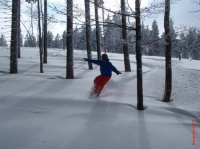
[(111, 62), (106, 61), (103, 62), (102, 60), (90, 60), (90, 59), (85, 59), (88, 62), (97, 64), (100, 66), (100, 72), (102, 76), (112, 76), (112, 71), (115, 72), (116, 74), (119, 74), (120, 72), (112, 65)]

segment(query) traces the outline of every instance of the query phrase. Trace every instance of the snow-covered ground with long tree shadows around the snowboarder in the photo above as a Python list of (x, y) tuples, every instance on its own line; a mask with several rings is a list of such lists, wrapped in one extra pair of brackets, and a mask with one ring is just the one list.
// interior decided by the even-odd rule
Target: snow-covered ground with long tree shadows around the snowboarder
[(86, 51), (75, 50), (75, 79), (65, 79), (65, 53), (49, 49), (40, 73), (39, 50), (22, 48), (19, 73), (9, 74), (0, 48), (0, 149), (200, 149), (200, 61), (172, 60), (173, 101), (164, 103), (165, 60), (143, 56), (147, 109), (138, 111), (135, 55), (124, 72), (123, 55), (108, 53), (123, 74), (91, 99), (99, 67), (88, 70)]

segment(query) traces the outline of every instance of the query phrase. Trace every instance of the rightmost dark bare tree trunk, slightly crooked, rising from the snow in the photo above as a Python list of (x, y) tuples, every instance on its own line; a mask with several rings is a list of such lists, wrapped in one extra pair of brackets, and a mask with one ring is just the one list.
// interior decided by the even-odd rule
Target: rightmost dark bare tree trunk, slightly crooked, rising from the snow
[(164, 102), (169, 102), (172, 91), (172, 67), (171, 67), (171, 35), (170, 35), (170, 0), (165, 0), (165, 16), (164, 16), (164, 27), (165, 27), (165, 92), (163, 96)]

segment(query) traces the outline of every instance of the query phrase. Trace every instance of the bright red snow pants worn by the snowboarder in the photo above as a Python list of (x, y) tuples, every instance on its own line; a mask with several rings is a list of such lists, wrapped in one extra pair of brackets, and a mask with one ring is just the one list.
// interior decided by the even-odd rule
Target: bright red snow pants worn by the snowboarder
[(94, 92), (100, 94), (106, 83), (110, 80), (111, 76), (99, 75), (94, 79)]

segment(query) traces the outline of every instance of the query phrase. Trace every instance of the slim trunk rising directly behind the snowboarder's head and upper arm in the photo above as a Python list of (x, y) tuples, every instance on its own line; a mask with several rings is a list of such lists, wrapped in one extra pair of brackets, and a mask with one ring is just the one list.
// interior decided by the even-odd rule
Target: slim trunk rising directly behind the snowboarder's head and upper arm
[(95, 21), (96, 21), (96, 39), (97, 39), (97, 59), (101, 60), (101, 41), (100, 41), (100, 28), (99, 28), (99, 14), (98, 14), (98, 0), (95, 0)]

